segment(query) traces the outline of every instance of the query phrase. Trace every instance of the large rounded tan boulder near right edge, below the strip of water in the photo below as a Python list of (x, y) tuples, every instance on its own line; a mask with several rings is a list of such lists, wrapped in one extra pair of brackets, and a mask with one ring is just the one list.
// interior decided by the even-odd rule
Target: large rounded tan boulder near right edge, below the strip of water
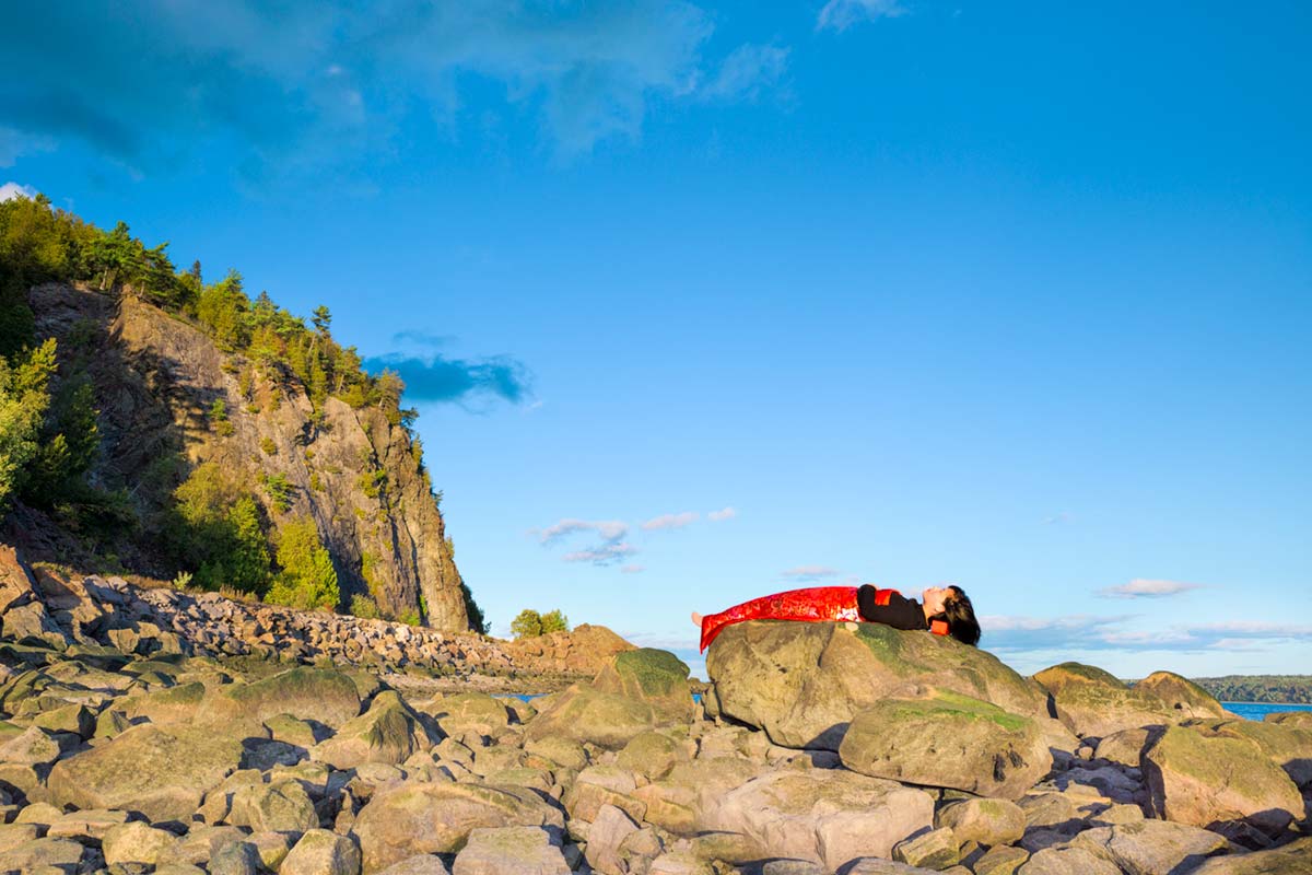
[(1277, 836), (1304, 816), (1284, 770), (1225, 723), (1168, 727), (1141, 763), (1149, 808), (1165, 820), (1203, 828), (1245, 821)]

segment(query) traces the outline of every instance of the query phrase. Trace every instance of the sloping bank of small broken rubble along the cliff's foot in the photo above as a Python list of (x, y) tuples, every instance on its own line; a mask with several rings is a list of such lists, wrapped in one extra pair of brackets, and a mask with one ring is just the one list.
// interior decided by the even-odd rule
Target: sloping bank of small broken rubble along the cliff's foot
[(632, 649), (601, 626), (501, 641), (475, 634), (300, 611), (219, 593), (189, 593), (122, 577), (29, 568), (0, 544), (0, 628), (55, 648), (113, 647), (127, 655), (255, 657), (367, 666), (429, 689), (543, 693), (592, 677)]

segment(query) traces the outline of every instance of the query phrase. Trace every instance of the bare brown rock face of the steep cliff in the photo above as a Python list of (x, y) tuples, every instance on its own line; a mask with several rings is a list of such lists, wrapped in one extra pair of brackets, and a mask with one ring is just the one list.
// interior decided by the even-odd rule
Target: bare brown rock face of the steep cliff
[[(314, 519), (345, 602), (370, 594), (384, 615), (416, 611), (440, 630), (470, 627), (419, 447), (380, 409), (328, 397), (315, 416), (299, 384), (279, 379), (277, 363), (224, 353), (130, 290), (108, 296), (46, 285), (31, 290), (30, 303), (38, 333), (59, 338), (60, 357), (87, 362), (102, 447), (93, 478), (127, 487), (143, 519), (165, 510), (189, 471), (214, 462), (274, 525)], [(290, 485), (285, 506), (262, 487), (268, 478)], [(28, 540), (38, 554), (56, 543)], [(157, 548), (118, 547), (125, 565), (171, 571)]]

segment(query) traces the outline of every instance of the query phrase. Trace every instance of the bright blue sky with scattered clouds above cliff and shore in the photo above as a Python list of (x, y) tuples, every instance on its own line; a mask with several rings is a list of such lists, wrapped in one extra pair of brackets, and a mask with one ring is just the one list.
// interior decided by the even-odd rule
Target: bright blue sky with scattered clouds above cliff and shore
[(1312, 670), (1305, 4), (266, 7), (7, 9), (0, 181), (399, 366), (495, 632)]

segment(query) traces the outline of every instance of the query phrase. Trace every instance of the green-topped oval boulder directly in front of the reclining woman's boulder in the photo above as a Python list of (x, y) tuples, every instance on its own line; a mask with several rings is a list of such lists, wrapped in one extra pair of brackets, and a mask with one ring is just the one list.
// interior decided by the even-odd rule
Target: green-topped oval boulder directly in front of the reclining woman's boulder
[(1019, 799), (1052, 769), (1036, 720), (946, 691), (862, 711), (838, 756), (863, 775), (1004, 799)]

